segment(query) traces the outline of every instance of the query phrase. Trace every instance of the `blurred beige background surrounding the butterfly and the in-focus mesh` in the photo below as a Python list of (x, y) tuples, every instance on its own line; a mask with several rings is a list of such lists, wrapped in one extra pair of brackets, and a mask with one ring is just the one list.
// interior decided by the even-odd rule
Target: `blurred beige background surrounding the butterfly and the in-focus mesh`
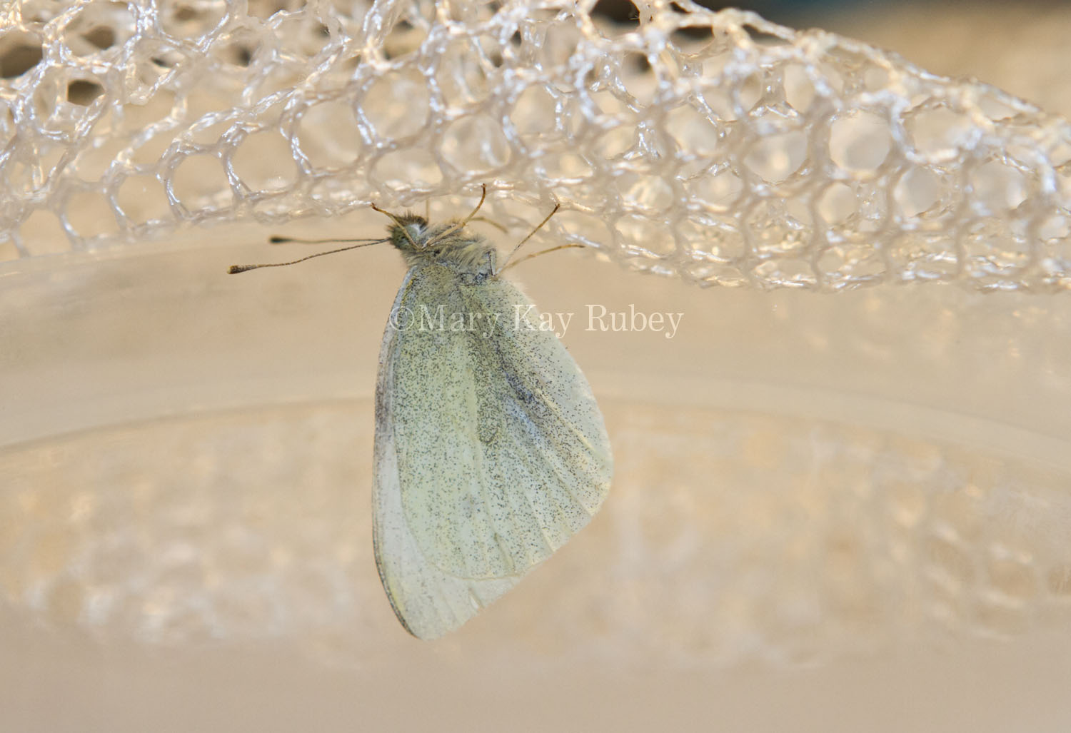
[[(749, 7), (1071, 109), (1064, 3)], [(3, 264), (0, 729), (1071, 728), (1066, 297), (527, 263), (545, 310), (681, 330), (567, 335), (615, 446), (610, 498), (427, 644), (371, 548), (397, 254), (224, 274), (271, 261), (269, 234), (382, 226), (221, 224)]]

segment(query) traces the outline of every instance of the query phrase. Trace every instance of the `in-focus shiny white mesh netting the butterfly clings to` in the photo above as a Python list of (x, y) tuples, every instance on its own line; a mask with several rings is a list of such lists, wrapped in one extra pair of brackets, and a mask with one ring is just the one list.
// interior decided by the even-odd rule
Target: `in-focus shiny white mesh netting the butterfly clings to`
[(14, 4), (6, 257), (488, 183), (705, 284), (1066, 287), (1071, 132), (996, 89), (689, 3), (283, 4)]

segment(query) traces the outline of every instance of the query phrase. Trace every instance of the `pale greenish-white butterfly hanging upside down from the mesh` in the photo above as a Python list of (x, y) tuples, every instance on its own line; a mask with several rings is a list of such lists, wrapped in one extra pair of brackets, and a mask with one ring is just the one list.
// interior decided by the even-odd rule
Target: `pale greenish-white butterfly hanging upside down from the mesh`
[[(613, 474), (587, 380), (466, 228), (484, 197), (443, 224), (374, 207), (389, 236), (343, 248), (390, 242), (409, 265), (379, 356), (372, 503), (379, 578), (420, 639), (457, 628), (549, 558), (599, 510)], [(257, 266), (275, 265), (230, 272)]]

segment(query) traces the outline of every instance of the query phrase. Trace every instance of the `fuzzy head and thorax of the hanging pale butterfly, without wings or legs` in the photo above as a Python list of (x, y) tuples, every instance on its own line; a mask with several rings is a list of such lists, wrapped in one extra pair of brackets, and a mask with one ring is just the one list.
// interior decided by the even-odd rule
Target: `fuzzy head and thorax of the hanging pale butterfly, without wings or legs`
[(416, 214), (403, 214), (387, 231), (391, 244), (409, 266), (439, 264), (457, 273), (486, 277), (495, 273), (495, 247), (456, 220), (428, 225)]

